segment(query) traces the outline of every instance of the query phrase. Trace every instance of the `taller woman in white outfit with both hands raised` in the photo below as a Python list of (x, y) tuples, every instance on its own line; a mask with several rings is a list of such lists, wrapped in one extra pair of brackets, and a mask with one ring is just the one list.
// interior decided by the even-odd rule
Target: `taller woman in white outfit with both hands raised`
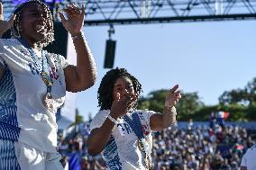
[(79, 92), (94, 85), (95, 61), (82, 34), (85, 6), (75, 4), (59, 17), (72, 36), (77, 66), (42, 48), (53, 41), (48, 6), (30, 0), (4, 21), (0, 3), (0, 34), (11, 29), (12, 39), (0, 40), (0, 169), (58, 170), (55, 113), (66, 90)]

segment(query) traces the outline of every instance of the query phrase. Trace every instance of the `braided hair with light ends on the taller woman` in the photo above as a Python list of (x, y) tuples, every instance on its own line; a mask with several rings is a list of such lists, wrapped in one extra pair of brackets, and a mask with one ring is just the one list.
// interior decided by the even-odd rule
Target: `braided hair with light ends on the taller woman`
[(13, 38), (15, 39), (20, 39), (21, 38), (21, 16), (23, 13), (23, 9), (28, 5), (28, 4), (40, 4), (43, 9), (46, 11), (47, 13), (47, 26), (50, 27), (50, 31), (47, 32), (47, 36), (45, 40), (42, 40), (38, 46), (43, 48), (46, 47), (50, 42), (52, 42), (54, 40), (54, 30), (53, 30), (53, 22), (52, 22), (52, 15), (50, 13), (50, 9), (47, 6), (47, 4), (44, 4), (42, 1), (40, 0), (29, 0), (27, 2), (24, 2), (23, 4), (20, 4), (15, 10), (14, 10), (14, 14), (16, 14), (15, 20), (14, 20), (14, 24), (11, 28), (11, 35)]

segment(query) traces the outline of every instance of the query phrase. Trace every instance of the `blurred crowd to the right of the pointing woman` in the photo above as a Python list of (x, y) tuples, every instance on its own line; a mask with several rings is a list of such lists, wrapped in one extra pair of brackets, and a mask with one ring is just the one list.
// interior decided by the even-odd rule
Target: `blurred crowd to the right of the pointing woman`
[(156, 132), (153, 169), (239, 170), (243, 153), (255, 142), (249, 131), (233, 126), (203, 126)]

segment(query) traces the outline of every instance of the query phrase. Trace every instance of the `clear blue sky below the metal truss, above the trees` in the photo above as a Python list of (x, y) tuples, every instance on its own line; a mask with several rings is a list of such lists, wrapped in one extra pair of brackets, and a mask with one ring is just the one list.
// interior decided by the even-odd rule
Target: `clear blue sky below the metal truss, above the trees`
[[(109, 70), (103, 68), (108, 27), (84, 30), (98, 75), (96, 85), (78, 93), (78, 110), (87, 119), (89, 112), (98, 111), (96, 91)], [(211, 105), (225, 90), (242, 88), (256, 76), (256, 21), (122, 25), (114, 30), (114, 67), (136, 76), (143, 95), (178, 84)]]

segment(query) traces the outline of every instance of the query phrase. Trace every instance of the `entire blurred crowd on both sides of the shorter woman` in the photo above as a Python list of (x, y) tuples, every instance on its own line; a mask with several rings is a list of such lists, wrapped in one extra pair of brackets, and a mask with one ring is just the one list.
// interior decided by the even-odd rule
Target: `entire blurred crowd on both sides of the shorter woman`
[[(59, 134), (59, 153), (66, 162), (76, 154), (82, 170), (105, 169), (101, 155), (91, 157), (87, 154), (89, 123), (80, 126), (83, 128), (73, 136), (64, 138)], [(255, 139), (256, 130), (212, 121), (195, 126), (190, 120), (185, 129), (174, 126), (153, 133), (152, 169), (239, 170), (242, 155)]]

